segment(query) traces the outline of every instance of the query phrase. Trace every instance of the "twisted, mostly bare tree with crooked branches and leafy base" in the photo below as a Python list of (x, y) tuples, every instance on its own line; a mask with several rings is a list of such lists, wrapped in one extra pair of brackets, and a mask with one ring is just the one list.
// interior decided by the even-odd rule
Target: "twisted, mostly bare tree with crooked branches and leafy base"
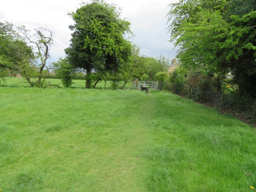
[[(54, 31), (48, 28), (39, 27), (34, 29), (34, 33), (31, 30), (27, 30), (24, 26), (19, 27), (20, 32), (24, 39), (28, 43), (33, 44), (36, 49), (36, 64), (25, 65), (23, 73), (31, 86), (42, 87), (44, 80), (49, 76), (49, 68), (46, 66), (46, 61), (50, 57), (50, 48), (54, 44), (53, 36)], [(36, 69), (34, 68), (36, 66)], [(31, 78), (38, 77), (37, 81), (32, 81)]]

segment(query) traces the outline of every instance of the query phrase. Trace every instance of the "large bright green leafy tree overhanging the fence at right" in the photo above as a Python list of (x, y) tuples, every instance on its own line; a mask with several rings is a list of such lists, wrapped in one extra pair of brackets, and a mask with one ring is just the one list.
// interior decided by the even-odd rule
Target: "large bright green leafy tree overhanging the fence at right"
[[(244, 12), (232, 10), (235, 2)], [(230, 72), (240, 92), (256, 94), (256, 12), (247, 8), (253, 6), (241, 0), (171, 4), (169, 32), (182, 65), (217, 76)]]

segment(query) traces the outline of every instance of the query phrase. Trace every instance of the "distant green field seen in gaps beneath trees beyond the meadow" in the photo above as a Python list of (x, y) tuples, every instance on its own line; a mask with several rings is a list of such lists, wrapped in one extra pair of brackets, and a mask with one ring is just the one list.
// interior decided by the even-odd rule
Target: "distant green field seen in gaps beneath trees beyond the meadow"
[[(59, 86), (63, 87), (62, 82), (60, 79), (46, 79), (46, 83), (49, 84), (58, 84)], [(85, 80), (73, 80), (74, 84), (72, 84), (73, 88), (84, 88), (85, 87)], [(124, 82), (119, 82), (119, 85), (122, 86)], [(128, 82), (125, 86), (125, 89), (128, 88), (132, 82)], [(8, 87), (30, 87), (30, 85), (26, 82), (24, 78), (18, 77), (6, 77), (6, 86)], [(105, 87), (105, 82), (98, 82), (96, 88), (103, 89)], [(110, 81), (106, 82), (106, 89), (110, 89), (111, 84)]]

